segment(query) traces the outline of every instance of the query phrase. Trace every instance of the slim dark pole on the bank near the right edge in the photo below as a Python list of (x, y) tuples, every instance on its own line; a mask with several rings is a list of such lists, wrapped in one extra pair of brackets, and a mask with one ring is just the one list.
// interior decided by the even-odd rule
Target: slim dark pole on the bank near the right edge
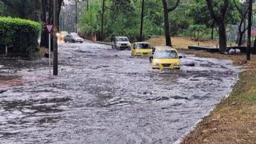
[(248, 38), (247, 38), (246, 60), (250, 60), (251, 31), (252, 31), (252, 0), (249, 0), (249, 6), (248, 6)]

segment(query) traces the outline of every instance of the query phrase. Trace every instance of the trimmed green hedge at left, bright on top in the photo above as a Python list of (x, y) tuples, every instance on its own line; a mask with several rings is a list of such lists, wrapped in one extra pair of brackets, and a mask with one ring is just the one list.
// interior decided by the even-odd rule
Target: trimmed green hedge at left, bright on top
[(0, 17), (0, 53), (30, 56), (37, 50), (40, 24), (20, 18)]

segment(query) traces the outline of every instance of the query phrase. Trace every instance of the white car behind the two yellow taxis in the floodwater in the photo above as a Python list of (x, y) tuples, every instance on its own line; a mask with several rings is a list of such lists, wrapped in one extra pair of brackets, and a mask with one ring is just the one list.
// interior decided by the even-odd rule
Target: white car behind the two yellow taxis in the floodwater
[(112, 41), (112, 48), (113, 49), (120, 49), (120, 50), (131, 50), (131, 43), (127, 37), (113, 37)]

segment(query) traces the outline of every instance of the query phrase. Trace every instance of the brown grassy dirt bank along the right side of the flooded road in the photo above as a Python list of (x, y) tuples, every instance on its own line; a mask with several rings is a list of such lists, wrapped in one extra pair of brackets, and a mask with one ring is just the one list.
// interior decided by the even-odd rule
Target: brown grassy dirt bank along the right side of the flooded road
[[(154, 46), (165, 45), (164, 38), (148, 40)], [(245, 67), (239, 74), (239, 80), (229, 97), (215, 107), (209, 116), (203, 118), (196, 129), (184, 138), (185, 143), (256, 143), (256, 55), (246, 60), (246, 55), (224, 55), (205, 51), (188, 50), (188, 45), (197, 45), (197, 41), (184, 38), (172, 38), (174, 48), (179, 52), (204, 58), (233, 60), (234, 65)], [(216, 46), (217, 41), (200, 41), (200, 45)]]

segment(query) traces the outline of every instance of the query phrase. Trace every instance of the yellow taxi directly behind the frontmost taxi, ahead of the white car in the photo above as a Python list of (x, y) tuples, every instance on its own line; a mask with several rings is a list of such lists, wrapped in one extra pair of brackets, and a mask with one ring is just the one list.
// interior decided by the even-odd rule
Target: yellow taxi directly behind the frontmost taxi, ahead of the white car
[(148, 42), (136, 42), (132, 47), (132, 56), (148, 56), (151, 51), (151, 44)]

